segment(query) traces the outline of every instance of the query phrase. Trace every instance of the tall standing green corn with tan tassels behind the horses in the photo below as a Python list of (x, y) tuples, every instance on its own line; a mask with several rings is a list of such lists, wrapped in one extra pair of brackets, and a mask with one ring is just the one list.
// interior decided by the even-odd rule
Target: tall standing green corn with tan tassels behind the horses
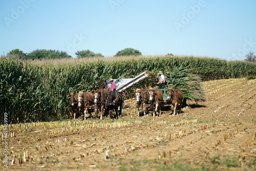
[[(68, 118), (69, 93), (100, 89), (102, 80), (132, 78), (145, 70), (153, 75), (158, 71), (166, 73), (170, 86), (183, 89), (185, 97), (191, 100), (204, 100), (200, 89), (191, 89), (190, 94), (185, 89), (200, 87), (200, 80), (256, 75), (255, 63), (194, 56), (32, 61), (0, 58), (0, 68), (1, 124), (4, 113), (8, 113), (9, 123)], [(184, 78), (196, 79), (190, 80), (192, 84), (188, 85)], [(157, 81), (157, 77), (146, 80), (144, 85), (152, 80)]]

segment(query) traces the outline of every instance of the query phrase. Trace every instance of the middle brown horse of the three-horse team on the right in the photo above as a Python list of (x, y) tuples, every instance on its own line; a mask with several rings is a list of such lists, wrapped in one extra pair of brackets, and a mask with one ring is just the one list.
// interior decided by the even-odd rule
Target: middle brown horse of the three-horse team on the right
[[(153, 117), (155, 117), (156, 114), (159, 116), (161, 113), (161, 107), (163, 103), (163, 92), (157, 88), (150, 88), (148, 90), (148, 98), (149, 98), (151, 107), (153, 108)], [(155, 110), (154, 110), (154, 104), (156, 104)]]

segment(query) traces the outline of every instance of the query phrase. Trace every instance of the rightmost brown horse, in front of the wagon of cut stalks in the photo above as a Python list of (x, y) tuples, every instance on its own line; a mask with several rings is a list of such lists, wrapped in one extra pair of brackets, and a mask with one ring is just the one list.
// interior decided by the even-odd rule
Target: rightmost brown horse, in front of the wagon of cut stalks
[(182, 108), (182, 102), (184, 99), (184, 96), (181, 92), (181, 90), (177, 89), (175, 90), (173, 87), (169, 88), (167, 90), (167, 99), (172, 100), (172, 105), (174, 106), (174, 115), (176, 114), (176, 109), (179, 110), (179, 113), (181, 113)]

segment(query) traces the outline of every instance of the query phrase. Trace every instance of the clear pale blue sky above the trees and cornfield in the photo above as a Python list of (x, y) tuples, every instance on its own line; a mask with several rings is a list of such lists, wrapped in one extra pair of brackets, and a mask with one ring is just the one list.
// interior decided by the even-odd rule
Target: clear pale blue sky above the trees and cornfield
[(13, 49), (113, 56), (256, 54), (255, 0), (20, 0), (0, 2), (0, 55)]

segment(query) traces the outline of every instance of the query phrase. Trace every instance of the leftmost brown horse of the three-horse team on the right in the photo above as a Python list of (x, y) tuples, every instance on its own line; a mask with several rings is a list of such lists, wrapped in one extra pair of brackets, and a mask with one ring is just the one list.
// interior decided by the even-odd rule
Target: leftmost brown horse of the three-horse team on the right
[(146, 105), (150, 104), (148, 101), (147, 90), (136, 89), (135, 95), (136, 95), (136, 103), (138, 108), (138, 116), (140, 116), (140, 105), (143, 105), (143, 112), (144, 112), (144, 115), (146, 115), (146, 112), (147, 112)]

